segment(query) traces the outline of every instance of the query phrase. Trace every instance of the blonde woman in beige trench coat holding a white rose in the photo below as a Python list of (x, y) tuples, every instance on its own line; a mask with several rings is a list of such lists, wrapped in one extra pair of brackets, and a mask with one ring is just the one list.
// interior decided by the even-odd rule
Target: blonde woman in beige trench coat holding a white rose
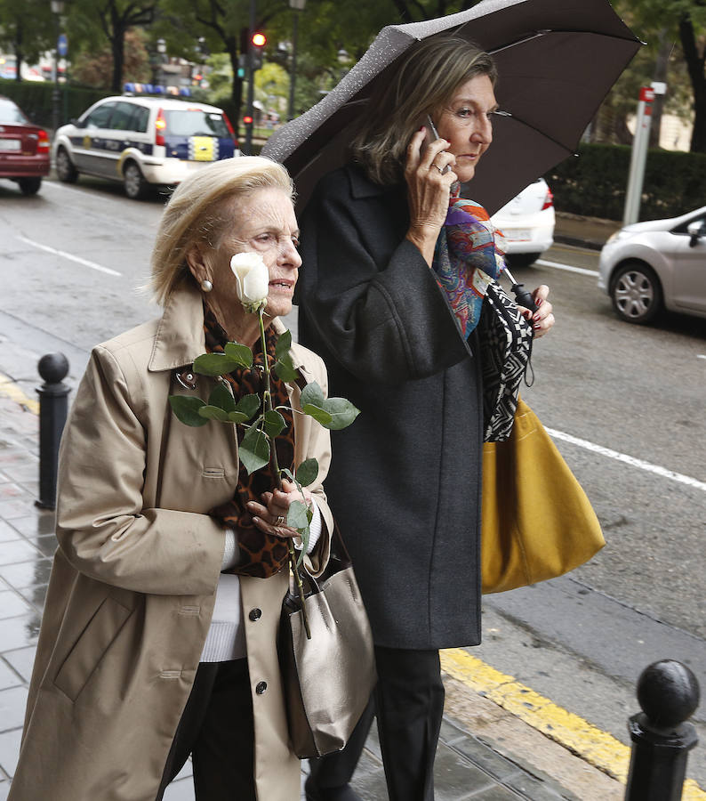
[[(206, 399), (215, 379), (192, 362), (229, 340), (253, 346), (257, 314), (237, 301), (231, 256), (269, 269), (267, 356), (284, 330), (301, 259), (293, 186), (265, 158), (220, 161), (181, 184), (153, 253), (161, 319), (93, 352), (60, 452), (59, 549), (29, 689), (12, 801), (153, 801), (193, 757), (198, 798), (294, 801), (300, 763), (288, 744), (276, 636), (288, 587), (284, 525), (292, 485), (238, 466), (231, 425), (182, 425), (168, 397)], [(321, 360), (293, 345), (301, 376), (325, 387)], [(277, 406), (297, 384), (273, 376)], [(322, 481), (329, 434), (283, 411), (279, 465), (315, 457), (309, 570), (328, 558)], [(317, 529), (317, 530), (315, 530)], [(316, 545), (311, 543), (316, 541)]]

